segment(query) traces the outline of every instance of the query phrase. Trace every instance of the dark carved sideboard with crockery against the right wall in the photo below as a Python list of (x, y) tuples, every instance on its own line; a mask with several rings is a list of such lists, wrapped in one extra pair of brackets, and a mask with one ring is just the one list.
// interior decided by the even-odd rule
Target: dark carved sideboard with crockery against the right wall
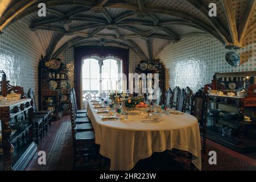
[(256, 72), (216, 73), (212, 83), (205, 85), (207, 138), (239, 152), (255, 151), (255, 76)]

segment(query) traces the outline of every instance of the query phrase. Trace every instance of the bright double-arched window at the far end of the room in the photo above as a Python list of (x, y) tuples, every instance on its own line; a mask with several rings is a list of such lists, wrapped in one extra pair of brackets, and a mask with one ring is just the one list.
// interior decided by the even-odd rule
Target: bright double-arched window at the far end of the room
[(82, 61), (82, 102), (122, 90), (122, 61), (93, 57)]

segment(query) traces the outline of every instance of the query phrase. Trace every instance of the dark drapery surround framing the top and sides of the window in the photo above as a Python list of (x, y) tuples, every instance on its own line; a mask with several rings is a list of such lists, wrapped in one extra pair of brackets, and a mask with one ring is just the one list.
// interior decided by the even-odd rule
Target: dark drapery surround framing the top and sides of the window
[[(82, 59), (89, 58), (90, 56), (108, 57), (114, 56), (122, 60), (123, 73), (127, 77), (128, 85), (128, 73), (129, 73), (129, 49), (118, 48), (118, 47), (101, 47), (101, 46), (81, 46), (74, 48), (75, 56), (75, 90), (77, 98), (78, 109), (81, 109), (81, 67)], [(127, 86), (128, 88), (128, 86)]]

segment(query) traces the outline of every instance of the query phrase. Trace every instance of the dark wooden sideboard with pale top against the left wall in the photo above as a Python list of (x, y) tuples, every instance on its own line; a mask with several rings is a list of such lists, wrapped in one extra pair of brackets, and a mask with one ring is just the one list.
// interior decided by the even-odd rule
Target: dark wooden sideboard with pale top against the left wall
[(3, 150), (0, 170), (23, 170), (34, 156), (38, 147), (33, 141), (32, 117), (31, 99), (0, 105)]

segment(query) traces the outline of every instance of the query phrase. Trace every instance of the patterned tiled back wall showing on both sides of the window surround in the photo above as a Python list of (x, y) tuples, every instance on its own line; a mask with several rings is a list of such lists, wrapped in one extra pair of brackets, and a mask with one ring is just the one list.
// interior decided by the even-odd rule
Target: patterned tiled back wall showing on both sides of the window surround
[[(63, 63), (67, 65), (69, 68), (68, 72), (68, 78), (69, 78), (69, 84), (71, 87), (74, 85), (74, 49), (69, 48), (67, 51), (62, 53), (59, 58), (63, 60)], [(139, 57), (136, 53), (133, 51), (130, 51), (129, 53), (129, 73), (134, 73), (135, 67), (139, 64), (139, 61), (141, 61), (141, 57)]]

